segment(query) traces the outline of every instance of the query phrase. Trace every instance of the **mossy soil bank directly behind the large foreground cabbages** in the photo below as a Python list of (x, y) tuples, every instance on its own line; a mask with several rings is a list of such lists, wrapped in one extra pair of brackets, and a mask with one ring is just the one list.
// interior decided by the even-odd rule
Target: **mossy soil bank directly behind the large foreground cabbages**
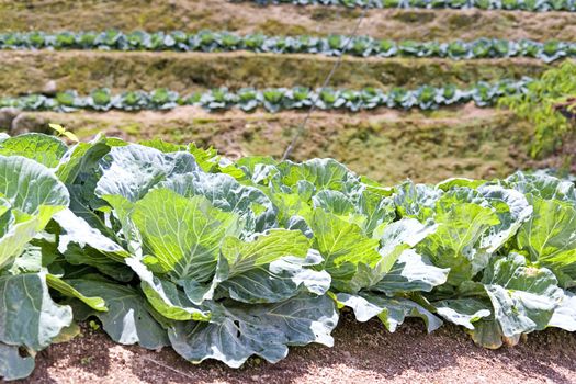
[[(184, 108), (169, 113), (26, 113), (57, 122), (81, 137), (99, 131), (129, 139), (165, 139), (214, 146), (231, 156), (280, 157), (304, 117), (228, 112), (211, 115)], [(294, 159), (332, 157), (357, 172), (386, 183), (411, 178), (501, 177), (522, 168), (530, 128), (501, 111), (460, 109), (450, 118), (415, 113), (374, 115), (316, 113)]]

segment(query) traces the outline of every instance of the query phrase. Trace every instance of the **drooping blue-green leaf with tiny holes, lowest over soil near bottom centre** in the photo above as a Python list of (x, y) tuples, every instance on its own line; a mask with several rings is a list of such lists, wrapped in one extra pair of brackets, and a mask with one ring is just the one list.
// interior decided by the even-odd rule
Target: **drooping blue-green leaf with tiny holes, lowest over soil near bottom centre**
[(338, 321), (334, 301), (301, 295), (276, 304), (224, 303), (211, 323), (177, 323), (169, 330), (172, 348), (194, 363), (206, 359), (238, 368), (251, 355), (278, 362), (289, 346), (318, 342), (331, 347)]

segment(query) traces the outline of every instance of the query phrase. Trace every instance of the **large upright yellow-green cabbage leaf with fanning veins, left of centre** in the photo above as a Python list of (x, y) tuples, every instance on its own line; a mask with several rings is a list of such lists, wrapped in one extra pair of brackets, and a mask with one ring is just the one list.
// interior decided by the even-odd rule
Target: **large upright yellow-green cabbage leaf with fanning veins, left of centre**
[(238, 233), (237, 216), (204, 196), (183, 197), (158, 189), (134, 206), (132, 219), (143, 239), (146, 262), (174, 281), (213, 278), (226, 235)]

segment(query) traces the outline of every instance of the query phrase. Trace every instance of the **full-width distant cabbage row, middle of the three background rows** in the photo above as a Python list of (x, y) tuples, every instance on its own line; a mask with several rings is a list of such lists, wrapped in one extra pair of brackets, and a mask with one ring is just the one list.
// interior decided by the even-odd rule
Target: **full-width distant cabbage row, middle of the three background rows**
[(562, 57), (576, 57), (576, 43), (550, 41), (546, 43), (521, 39), (518, 42), (478, 38), (473, 42), (394, 42), (369, 36), (330, 35), (327, 37), (237, 35), (229, 32), (201, 31), (187, 34), (123, 33), (110, 30), (97, 32), (25, 32), (0, 34), (1, 49), (103, 49), (103, 50), (176, 50), (176, 52), (233, 52), (250, 50), (275, 54), (320, 54), (340, 56), (408, 56), (445, 57), (451, 59), (534, 57), (546, 63)]

